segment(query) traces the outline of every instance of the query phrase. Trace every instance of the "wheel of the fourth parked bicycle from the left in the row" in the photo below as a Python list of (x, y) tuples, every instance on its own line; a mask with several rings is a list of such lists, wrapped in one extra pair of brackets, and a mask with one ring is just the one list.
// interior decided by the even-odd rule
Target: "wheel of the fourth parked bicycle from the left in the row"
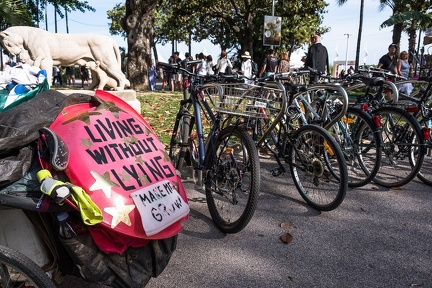
[(424, 159), (424, 140), (414, 116), (397, 107), (372, 111), (381, 117), (381, 168), (374, 182), (384, 187), (407, 184), (419, 172)]

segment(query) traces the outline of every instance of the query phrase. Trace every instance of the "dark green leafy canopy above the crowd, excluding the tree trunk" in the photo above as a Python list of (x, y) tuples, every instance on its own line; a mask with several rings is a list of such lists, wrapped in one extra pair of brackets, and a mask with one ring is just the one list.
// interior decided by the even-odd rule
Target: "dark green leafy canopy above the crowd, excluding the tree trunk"
[[(204, 39), (220, 45), (222, 50), (249, 50), (262, 58), (268, 47), (263, 43), (264, 16), (271, 15), (272, 0), (160, 0), (153, 25), (154, 43), (165, 44)], [(306, 43), (311, 34), (324, 34), (330, 28), (320, 27), (327, 3), (318, 1), (275, 1), (275, 15), (281, 16), (281, 51), (293, 51)], [(118, 11), (113, 11), (118, 10)], [(110, 10), (110, 32), (123, 35), (118, 6)]]

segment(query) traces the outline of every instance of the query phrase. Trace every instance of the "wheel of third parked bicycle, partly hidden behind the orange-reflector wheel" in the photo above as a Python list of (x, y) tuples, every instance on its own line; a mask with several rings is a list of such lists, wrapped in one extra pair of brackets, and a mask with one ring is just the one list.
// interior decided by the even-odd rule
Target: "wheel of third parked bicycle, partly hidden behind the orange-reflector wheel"
[(348, 168), (348, 186), (362, 187), (371, 182), (381, 163), (381, 134), (366, 112), (348, 107), (339, 123), (339, 144)]

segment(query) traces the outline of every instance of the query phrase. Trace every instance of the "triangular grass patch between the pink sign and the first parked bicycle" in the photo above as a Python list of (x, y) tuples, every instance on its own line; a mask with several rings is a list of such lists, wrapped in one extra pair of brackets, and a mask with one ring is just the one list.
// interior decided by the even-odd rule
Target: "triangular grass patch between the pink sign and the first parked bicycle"
[(150, 124), (163, 144), (169, 146), (175, 117), (178, 112), (181, 92), (137, 92), (141, 103), (141, 115)]

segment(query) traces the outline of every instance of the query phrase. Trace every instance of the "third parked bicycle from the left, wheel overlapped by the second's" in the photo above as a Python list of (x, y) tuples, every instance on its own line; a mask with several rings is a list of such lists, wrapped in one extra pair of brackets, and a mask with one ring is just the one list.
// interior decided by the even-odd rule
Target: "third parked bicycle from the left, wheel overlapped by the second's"
[[(294, 71), (290, 76), (297, 78), (297, 73), (302, 77), (313, 74), (319, 80), (334, 81), (311, 68)], [(381, 160), (381, 138), (372, 117), (348, 105), (348, 95), (339, 83), (319, 81), (318, 84), (299, 86), (284, 82), (284, 85), (290, 91), (291, 104), (303, 112), (298, 118), (299, 125), (319, 125), (336, 139), (345, 156), (348, 186), (361, 187), (372, 181)]]

